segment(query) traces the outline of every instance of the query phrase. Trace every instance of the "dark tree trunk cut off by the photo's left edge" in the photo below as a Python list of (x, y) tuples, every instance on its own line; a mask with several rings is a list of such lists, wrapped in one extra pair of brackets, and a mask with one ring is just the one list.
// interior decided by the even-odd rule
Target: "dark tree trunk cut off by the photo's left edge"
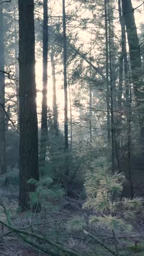
[[(3, 34), (3, 7), (0, 4), (0, 70), (4, 71), (4, 34)], [(4, 73), (0, 72), (0, 174), (7, 171), (5, 157), (5, 83)]]

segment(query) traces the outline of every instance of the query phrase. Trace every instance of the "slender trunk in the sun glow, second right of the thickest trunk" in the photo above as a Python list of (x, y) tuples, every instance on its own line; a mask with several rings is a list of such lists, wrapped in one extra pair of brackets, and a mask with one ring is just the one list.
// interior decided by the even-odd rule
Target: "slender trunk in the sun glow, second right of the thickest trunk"
[(53, 50), (51, 51), (51, 67), (52, 67), (52, 108), (53, 108), (53, 126), (56, 134), (58, 133), (58, 109), (56, 95), (56, 70)]

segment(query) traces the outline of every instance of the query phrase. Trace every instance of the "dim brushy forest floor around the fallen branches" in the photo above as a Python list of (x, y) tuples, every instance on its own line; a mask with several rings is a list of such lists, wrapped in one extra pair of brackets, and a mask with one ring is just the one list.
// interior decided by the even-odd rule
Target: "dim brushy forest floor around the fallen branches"
[[(16, 188), (1, 188), (0, 198), (2, 199), (5, 207), (11, 209), (10, 216), (14, 227), (20, 229), (29, 226), (29, 231), (37, 231), (40, 235), (47, 235), (51, 238), (52, 241), (56, 241), (57, 243), (61, 242), (63, 245), (68, 246), (71, 251), (76, 251), (82, 256), (112, 255), (105, 251), (100, 245), (98, 245), (97, 242), (83, 234), (83, 232), (78, 230), (78, 228), (75, 231), (70, 229), (69, 220), (71, 218), (81, 217), (87, 222), (88, 215), (91, 214), (82, 210), (82, 200), (63, 198), (55, 202), (55, 204), (58, 205), (57, 210), (41, 211), (40, 213), (21, 213), (17, 211), (18, 191)], [(6, 217), (2, 208), (0, 209), (0, 214), (0, 219), (6, 221)], [(38, 223), (41, 223), (41, 225), (37, 225)], [(107, 246), (115, 248), (110, 230), (99, 225), (93, 228), (92, 226), (90, 227), (87, 225), (87, 230), (94, 236), (97, 236)], [(119, 250), (121, 251), (121, 248), (124, 249), (127, 246), (133, 246), (135, 245), (135, 242), (140, 243), (144, 247), (143, 230), (143, 223), (139, 223), (136, 224), (136, 228), (133, 232), (127, 232), (127, 234), (124, 232), (119, 232)], [(8, 230), (6, 228), (1, 228), (0, 230), (0, 256), (45, 255), (39, 253), (38, 251), (34, 251), (33, 248), (27, 246), (13, 233), (1, 238), (7, 232)], [(127, 255), (133, 255), (133, 252), (130, 252)], [(134, 255), (142, 256), (144, 255), (144, 252), (134, 253)]]

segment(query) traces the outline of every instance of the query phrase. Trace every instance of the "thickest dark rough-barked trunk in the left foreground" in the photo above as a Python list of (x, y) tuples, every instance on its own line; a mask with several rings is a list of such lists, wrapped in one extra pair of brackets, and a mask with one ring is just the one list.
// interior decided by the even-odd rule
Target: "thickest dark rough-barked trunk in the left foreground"
[(19, 65), (20, 65), (20, 192), (19, 206), (29, 209), (29, 192), (39, 180), (38, 120), (35, 84), (34, 1), (19, 0)]

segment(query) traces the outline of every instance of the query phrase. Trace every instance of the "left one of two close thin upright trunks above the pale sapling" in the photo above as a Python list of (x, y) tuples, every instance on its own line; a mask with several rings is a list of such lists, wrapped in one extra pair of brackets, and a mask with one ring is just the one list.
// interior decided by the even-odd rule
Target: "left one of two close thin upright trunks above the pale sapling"
[(107, 108), (107, 143), (110, 149), (111, 131), (110, 131), (110, 91), (109, 91), (109, 45), (107, 32), (107, 0), (105, 0), (105, 45), (106, 45), (106, 108)]

